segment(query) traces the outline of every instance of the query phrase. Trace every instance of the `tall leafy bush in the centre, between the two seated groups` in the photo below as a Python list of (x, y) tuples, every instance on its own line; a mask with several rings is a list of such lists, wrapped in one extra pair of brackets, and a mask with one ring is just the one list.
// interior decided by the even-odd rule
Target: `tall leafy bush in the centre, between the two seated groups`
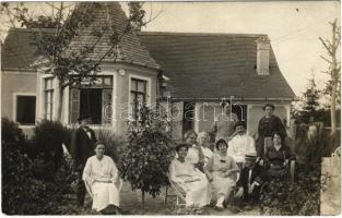
[(167, 171), (173, 158), (170, 133), (168, 123), (157, 111), (143, 107), (140, 118), (129, 125), (128, 145), (120, 150), (119, 168), (132, 190), (142, 191), (142, 198), (144, 193), (155, 197), (168, 184)]

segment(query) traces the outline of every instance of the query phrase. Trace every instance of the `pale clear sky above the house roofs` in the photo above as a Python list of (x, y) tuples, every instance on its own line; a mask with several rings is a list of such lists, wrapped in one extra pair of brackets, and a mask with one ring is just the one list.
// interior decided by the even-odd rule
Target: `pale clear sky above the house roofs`
[[(46, 7), (28, 4), (32, 11)], [(121, 5), (127, 12), (127, 3)], [(319, 57), (326, 55), (319, 37), (331, 38), (329, 22), (340, 22), (340, 8), (339, 1), (146, 2), (152, 21), (143, 31), (267, 34), (281, 72), (300, 96), (312, 72), (318, 87), (328, 81), (321, 73), (328, 64)]]

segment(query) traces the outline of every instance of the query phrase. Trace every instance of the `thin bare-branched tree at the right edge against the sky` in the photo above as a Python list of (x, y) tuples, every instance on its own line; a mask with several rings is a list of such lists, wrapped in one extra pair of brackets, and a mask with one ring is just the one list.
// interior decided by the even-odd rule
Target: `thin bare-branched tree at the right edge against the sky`
[(329, 69), (323, 73), (329, 75), (327, 92), (330, 95), (331, 134), (334, 135), (334, 133), (337, 132), (337, 99), (340, 95), (340, 93), (338, 92), (338, 87), (341, 78), (341, 62), (339, 61), (338, 57), (338, 50), (341, 44), (341, 28), (338, 24), (337, 19), (333, 22), (329, 23), (332, 27), (331, 40), (322, 39), (321, 37), (319, 37), (319, 40), (322, 43), (328, 55), (328, 57), (320, 57), (329, 63)]

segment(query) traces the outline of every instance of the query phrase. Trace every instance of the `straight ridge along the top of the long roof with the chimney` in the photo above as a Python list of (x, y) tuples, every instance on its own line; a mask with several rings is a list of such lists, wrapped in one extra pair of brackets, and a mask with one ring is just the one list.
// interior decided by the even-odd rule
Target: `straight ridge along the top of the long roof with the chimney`
[(139, 35), (160, 35), (160, 36), (232, 36), (232, 37), (260, 37), (268, 34), (237, 34), (237, 33), (189, 33), (189, 32), (140, 32)]

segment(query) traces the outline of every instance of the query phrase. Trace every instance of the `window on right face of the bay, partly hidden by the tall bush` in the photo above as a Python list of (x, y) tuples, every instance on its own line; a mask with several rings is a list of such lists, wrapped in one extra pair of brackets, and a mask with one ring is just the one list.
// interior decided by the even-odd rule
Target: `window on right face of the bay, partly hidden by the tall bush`
[(132, 107), (132, 118), (138, 120), (139, 109), (146, 102), (146, 86), (148, 81), (131, 78), (130, 87), (130, 104)]

